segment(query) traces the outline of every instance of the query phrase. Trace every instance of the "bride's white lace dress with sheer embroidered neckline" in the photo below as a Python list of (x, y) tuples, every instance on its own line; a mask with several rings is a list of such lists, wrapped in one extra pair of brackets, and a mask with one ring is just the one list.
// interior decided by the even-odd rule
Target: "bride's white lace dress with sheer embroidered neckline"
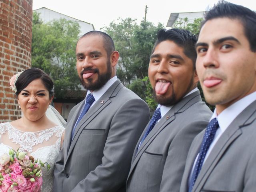
[(35, 159), (50, 164), (50, 170), (42, 170), (42, 192), (52, 192), (54, 162), (61, 148), (61, 136), (64, 127), (55, 126), (38, 132), (23, 132), (9, 122), (0, 124), (0, 155), (10, 148), (26, 152)]

